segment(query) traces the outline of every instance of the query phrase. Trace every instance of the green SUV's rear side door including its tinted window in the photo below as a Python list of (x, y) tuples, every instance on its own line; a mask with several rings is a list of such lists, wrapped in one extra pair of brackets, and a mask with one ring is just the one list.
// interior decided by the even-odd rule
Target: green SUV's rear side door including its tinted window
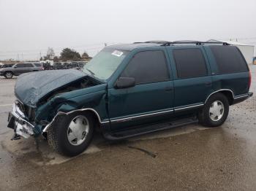
[(203, 47), (168, 47), (173, 67), (174, 112), (203, 106), (212, 91), (211, 71)]

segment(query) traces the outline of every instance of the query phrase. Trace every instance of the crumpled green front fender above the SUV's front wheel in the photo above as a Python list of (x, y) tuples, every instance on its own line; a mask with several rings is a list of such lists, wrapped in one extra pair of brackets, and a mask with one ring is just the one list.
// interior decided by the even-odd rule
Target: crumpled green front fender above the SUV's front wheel
[(85, 110), (95, 112), (99, 122), (108, 120), (106, 92), (107, 85), (104, 84), (56, 95), (56, 97), (37, 108), (35, 121), (38, 124), (43, 124), (41, 128), (43, 130), (45, 123), (49, 125), (58, 114)]

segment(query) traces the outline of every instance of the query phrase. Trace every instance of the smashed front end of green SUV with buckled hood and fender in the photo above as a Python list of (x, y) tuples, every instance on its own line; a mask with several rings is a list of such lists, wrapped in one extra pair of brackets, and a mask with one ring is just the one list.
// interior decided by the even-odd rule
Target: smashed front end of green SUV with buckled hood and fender
[[(34, 81), (30, 85), (25, 78), (32, 77), (28, 75), (21, 76), (20, 79), (18, 77), (15, 85), (15, 95), (18, 99), (12, 106), (12, 112), (9, 113), (7, 125), (8, 128), (14, 129), (15, 139), (19, 136), (27, 139), (30, 136), (44, 135), (56, 117), (76, 109), (84, 109), (85, 106), (95, 106), (102, 100), (102, 95), (105, 95), (106, 85), (97, 79), (82, 74), (78, 77), (64, 78), (60, 73), (64, 73), (67, 77), (67, 71), (50, 72), (57, 75), (55, 77), (48, 75), (49, 78), (41, 83), (37, 82), (39, 78), (34, 76)], [(71, 73), (74, 74), (76, 71)], [(61, 82), (56, 76), (62, 77)], [(20, 82), (26, 83), (26, 86)]]

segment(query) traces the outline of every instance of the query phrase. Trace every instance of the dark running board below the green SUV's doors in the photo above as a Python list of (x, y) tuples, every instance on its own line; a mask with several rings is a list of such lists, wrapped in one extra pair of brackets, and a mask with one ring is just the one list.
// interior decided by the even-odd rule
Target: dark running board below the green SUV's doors
[(129, 130), (123, 130), (123, 131), (118, 131), (118, 132), (112, 132), (112, 133), (103, 133), (103, 136), (105, 139), (112, 140), (112, 141), (117, 141), (117, 140), (122, 140), (122, 139), (128, 139), (134, 136), (141, 136), (146, 133), (153, 133), (159, 130), (166, 130), (170, 128), (177, 128), (182, 125), (189, 125), (192, 123), (198, 122), (197, 118), (195, 117), (189, 117), (186, 119), (182, 120), (174, 120), (170, 122), (162, 122), (159, 124), (154, 124), (154, 125), (147, 125), (143, 128), (132, 128)]

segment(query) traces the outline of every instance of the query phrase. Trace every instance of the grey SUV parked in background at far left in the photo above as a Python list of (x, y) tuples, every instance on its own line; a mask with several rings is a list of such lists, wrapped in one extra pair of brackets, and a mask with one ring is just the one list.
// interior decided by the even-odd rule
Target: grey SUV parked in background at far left
[(0, 76), (12, 78), (31, 71), (42, 71), (44, 68), (41, 63), (16, 63), (13, 66), (5, 66), (0, 69)]

